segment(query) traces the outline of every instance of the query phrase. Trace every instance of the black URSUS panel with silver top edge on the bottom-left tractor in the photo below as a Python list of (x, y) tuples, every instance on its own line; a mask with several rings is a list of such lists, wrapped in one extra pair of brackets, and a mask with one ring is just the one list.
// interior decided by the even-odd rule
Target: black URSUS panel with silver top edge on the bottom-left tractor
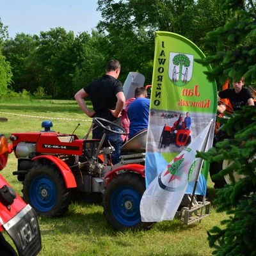
[(3, 225), (12, 238), (20, 256), (37, 255), (41, 248), (41, 234), (36, 213), (28, 204)]

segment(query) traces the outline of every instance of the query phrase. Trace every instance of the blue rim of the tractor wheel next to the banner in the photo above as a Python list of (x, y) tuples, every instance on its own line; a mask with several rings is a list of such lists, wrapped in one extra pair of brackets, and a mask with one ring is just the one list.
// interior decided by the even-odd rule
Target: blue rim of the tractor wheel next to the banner
[(141, 194), (131, 186), (120, 186), (111, 196), (111, 214), (118, 223), (125, 227), (133, 227), (140, 223)]

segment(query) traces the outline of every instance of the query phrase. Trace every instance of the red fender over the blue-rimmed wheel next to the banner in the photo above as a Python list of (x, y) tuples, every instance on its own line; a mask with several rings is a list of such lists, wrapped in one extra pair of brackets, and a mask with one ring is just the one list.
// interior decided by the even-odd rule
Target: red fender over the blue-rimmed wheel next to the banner
[(125, 164), (122, 166), (119, 166), (118, 168), (113, 169), (111, 172), (109, 172), (104, 179), (106, 180), (106, 185), (108, 186), (108, 183), (115, 175), (118, 175), (120, 172), (136, 172), (139, 173), (143, 178), (145, 178), (145, 166), (142, 164)]

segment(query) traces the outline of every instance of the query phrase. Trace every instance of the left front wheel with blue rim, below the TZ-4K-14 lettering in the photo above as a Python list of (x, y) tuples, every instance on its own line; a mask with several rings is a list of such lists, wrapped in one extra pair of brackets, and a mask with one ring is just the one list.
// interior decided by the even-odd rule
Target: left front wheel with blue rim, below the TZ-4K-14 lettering
[(41, 216), (61, 216), (70, 204), (70, 191), (60, 171), (49, 164), (35, 164), (29, 170), (22, 193), (24, 201)]

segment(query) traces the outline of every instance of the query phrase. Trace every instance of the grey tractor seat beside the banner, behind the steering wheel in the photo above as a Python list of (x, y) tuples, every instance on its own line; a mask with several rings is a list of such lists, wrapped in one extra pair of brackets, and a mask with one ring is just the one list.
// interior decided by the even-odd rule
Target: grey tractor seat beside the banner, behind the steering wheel
[(145, 128), (133, 134), (131, 138), (122, 145), (121, 150), (145, 151), (147, 144), (147, 131), (148, 129)]

